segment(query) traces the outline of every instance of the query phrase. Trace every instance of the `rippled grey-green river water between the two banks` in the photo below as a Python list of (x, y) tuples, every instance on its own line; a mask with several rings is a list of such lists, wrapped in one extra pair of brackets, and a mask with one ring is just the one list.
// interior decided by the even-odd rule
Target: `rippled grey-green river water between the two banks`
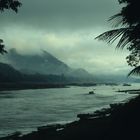
[[(139, 87), (140, 84), (99, 85), (0, 92), (0, 137), (15, 131), (28, 133), (46, 124), (76, 120), (79, 113), (94, 112), (110, 103), (124, 102), (136, 96), (117, 90)], [(88, 94), (92, 89), (95, 94)]]

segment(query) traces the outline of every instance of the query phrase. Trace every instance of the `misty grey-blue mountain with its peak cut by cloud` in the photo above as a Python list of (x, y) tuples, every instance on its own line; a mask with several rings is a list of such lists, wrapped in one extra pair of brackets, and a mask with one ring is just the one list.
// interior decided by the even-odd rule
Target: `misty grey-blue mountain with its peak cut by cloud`
[(41, 55), (21, 55), (15, 49), (11, 49), (6, 57), (14, 68), (26, 74), (53, 74), (93, 79), (86, 70), (72, 69), (47, 51), (42, 51)]

